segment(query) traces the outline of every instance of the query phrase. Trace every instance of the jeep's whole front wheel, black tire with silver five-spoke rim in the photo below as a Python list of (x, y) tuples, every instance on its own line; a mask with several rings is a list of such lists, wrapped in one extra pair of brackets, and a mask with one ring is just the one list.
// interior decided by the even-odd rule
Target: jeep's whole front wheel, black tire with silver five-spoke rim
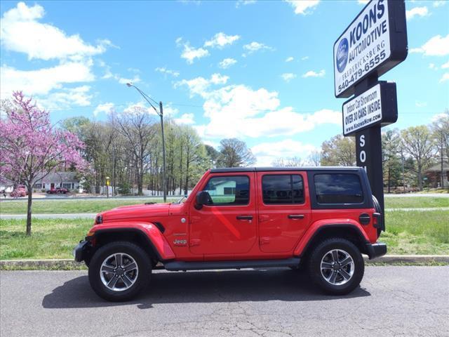
[(149, 284), (152, 263), (140, 246), (111, 242), (89, 263), (89, 282), (98, 296), (112, 301), (130, 300)]

